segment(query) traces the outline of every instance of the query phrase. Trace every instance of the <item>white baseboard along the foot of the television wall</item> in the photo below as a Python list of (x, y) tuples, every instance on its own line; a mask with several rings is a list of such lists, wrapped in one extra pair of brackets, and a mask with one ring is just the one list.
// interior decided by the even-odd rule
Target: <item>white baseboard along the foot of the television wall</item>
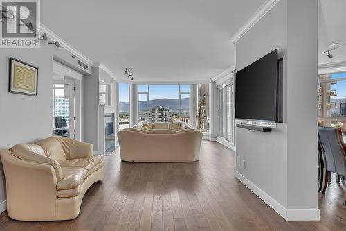
[(235, 177), (260, 197), (267, 205), (274, 209), (275, 212), (280, 214), (280, 216), (282, 216), (286, 221), (320, 221), (319, 209), (286, 209), (286, 207), (266, 194), (265, 191), (253, 184), (253, 182), (242, 176), (238, 171), (235, 171)]

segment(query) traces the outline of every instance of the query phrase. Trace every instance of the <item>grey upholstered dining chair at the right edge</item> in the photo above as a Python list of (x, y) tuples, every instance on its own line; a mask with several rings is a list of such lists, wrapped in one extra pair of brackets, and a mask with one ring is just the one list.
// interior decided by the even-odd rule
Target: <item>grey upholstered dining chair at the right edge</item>
[[(346, 176), (346, 145), (343, 142), (343, 134), (340, 128), (318, 126), (318, 139), (322, 146), (322, 153), (325, 156), (323, 164), (327, 172), (336, 173), (338, 176)], [(323, 180), (327, 184), (327, 180)], [(325, 188), (325, 185), (324, 185)], [(346, 198), (344, 201), (346, 205)]]

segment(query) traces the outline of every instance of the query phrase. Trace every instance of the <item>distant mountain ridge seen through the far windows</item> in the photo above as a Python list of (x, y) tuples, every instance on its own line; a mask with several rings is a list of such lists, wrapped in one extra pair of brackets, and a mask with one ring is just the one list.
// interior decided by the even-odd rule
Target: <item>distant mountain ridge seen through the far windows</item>
[[(179, 99), (153, 99), (149, 101), (149, 109), (163, 106), (170, 111), (179, 110)], [(190, 98), (181, 99), (181, 109), (183, 111), (190, 110)], [(125, 112), (129, 110), (129, 103), (119, 102), (119, 111)], [(147, 101), (139, 101), (138, 110), (144, 111), (147, 110)]]

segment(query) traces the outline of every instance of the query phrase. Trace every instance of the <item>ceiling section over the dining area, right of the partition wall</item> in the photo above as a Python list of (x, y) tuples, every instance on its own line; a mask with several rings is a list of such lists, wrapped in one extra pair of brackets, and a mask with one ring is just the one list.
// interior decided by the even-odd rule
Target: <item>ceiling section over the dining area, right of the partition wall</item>
[(346, 44), (346, 1), (320, 0), (318, 12), (318, 64), (346, 61), (346, 46), (331, 51), (328, 58), (324, 51), (331, 49), (330, 44)]

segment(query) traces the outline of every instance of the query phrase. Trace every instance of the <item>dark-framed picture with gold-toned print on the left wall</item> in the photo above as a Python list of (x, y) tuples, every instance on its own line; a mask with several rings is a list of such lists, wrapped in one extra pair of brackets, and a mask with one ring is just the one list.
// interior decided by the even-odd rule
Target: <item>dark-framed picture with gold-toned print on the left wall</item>
[(37, 96), (38, 74), (38, 67), (15, 58), (10, 58), (10, 84), (8, 92)]

